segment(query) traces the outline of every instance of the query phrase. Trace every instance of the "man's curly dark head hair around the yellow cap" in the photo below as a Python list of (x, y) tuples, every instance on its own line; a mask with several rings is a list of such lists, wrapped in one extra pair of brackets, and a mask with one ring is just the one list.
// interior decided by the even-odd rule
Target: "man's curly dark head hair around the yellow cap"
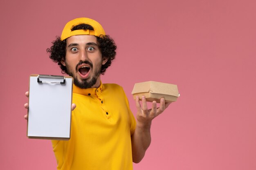
[[(73, 26), (71, 30), (74, 31), (79, 29), (94, 30), (93, 27), (89, 24), (79, 24)], [(106, 69), (112, 64), (112, 60), (115, 59), (117, 46), (109, 35), (100, 35), (96, 38), (99, 42), (99, 49), (101, 51), (102, 57), (108, 59), (108, 61), (101, 67), (101, 74), (104, 75)], [(65, 60), (66, 57), (67, 39), (62, 41), (59, 36), (56, 36), (56, 40), (54, 40), (52, 44), (53, 45), (50, 48), (46, 49), (46, 51), (50, 53), (49, 57), (54, 62), (58, 63), (62, 70), (61, 73), (67, 73), (67, 67), (63, 66), (61, 63), (61, 60)]]

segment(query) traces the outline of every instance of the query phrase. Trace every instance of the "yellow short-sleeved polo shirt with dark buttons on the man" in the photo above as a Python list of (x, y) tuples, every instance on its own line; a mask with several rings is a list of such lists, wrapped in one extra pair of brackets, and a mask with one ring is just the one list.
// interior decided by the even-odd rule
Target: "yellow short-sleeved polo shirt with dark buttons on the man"
[(132, 170), (136, 121), (121, 86), (73, 86), (71, 137), (52, 141), (58, 170)]

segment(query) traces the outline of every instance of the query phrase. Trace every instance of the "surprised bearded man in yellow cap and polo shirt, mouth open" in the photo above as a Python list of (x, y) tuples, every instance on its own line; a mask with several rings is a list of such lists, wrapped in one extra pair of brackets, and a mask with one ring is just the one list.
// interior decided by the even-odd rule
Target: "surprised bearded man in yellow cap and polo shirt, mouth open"
[(90, 18), (68, 22), (47, 49), (74, 78), (70, 140), (52, 141), (58, 170), (132, 170), (132, 161), (140, 162), (150, 145), (151, 121), (168, 104), (162, 98), (159, 108), (154, 101), (148, 110), (145, 97), (142, 105), (137, 97), (136, 123), (121, 86), (101, 83), (115, 50), (115, 42)]

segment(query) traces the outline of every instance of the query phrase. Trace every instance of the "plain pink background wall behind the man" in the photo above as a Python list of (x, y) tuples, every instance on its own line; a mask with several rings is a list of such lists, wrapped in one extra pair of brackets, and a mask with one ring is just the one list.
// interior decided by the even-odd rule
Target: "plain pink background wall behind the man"
[(117, 43), (103, 83), (177, 84), (135, 170), (256, 169), (255, 0), (1, 0), (0, 169), (54, 170), (48, 140), (27, 139), (29, 75), (61, 75), (46, 53), (66, 22), (99, 21)]

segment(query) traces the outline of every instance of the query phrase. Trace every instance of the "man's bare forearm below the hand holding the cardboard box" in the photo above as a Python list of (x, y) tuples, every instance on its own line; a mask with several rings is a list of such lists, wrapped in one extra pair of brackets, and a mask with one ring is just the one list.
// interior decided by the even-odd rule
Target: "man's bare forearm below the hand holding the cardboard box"
[(148, 149), (151, 137), (150, 137), (150, 124), (142, 125), (137, 122), (134, 134), (131, 137), (132, 141), (132, 161), (139, 163)]

